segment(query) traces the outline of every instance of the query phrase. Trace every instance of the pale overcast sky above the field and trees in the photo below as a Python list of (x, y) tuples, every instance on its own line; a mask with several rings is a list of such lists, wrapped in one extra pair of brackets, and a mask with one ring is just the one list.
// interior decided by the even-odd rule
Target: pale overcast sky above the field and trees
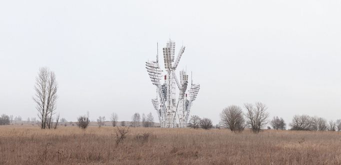
[(222, 108), (261, 101), (287, 123), (294, 114), (335, 120), (340, 8), (340, 0), (2, 0), (0, 113), (36, 117), (33, 85), (47, 66), (61, 117), (152, 112), (157, 121), (144, 62), (170, 37), (176, 51), (186, 46), (178, 71), (201, 85), (191, 114), (216, 124)]

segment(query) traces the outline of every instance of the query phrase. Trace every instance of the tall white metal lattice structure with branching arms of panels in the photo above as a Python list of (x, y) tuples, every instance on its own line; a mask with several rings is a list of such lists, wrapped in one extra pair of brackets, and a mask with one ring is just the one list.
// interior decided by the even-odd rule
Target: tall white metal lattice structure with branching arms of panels
[[(174, 41), (169, 39), (166, 46), (162, 48), (165, 68), (163, 83), (160, 82), (163, 70), (158, 63), (158, 53), (155, 61), (145, 62), (151, 82), (156, 86), (156, 98), (151, 99), (151, 103), (157, 111), (161, 127), (186, 127), (190, 107), (200, 89), (200, 85), (194, 84), (191, 80), (190, 88), (187, 90), (188, 74), (183, 69), (179, 73), (179, 80), (176, 77), (175, 70), (184, 48), (181, 46), (176, 58)], [(177, 99), (176, 93), (178, 93)]]

